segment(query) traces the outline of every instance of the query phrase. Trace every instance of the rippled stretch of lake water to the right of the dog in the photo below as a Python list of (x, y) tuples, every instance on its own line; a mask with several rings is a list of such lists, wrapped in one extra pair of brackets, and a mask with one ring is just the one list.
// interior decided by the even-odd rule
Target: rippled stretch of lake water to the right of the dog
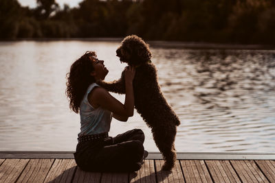
[(158, 49), (154, 56), (183, 123), (182, 151), (274, 151), (274, 51)]

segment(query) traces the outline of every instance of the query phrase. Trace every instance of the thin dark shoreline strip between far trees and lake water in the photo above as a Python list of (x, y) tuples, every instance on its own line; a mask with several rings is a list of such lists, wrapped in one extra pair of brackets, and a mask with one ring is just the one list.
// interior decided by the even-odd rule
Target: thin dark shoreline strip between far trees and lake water
[[(121, 42), (123, 38), (22, 38), (16, 40), (0, 40), (1, 42), (19, 42), (19, 41), (98, 41), (98, 42)], [(259, 50), (274, 50), (275, 45), (245, 45), (233, 43), (216, 43), (216, 42), (184, 42), (184, 41), (170, 41), (170, 40), (145, 40), (150, 47), (164, 47), (175, 49), (259, 49)]]

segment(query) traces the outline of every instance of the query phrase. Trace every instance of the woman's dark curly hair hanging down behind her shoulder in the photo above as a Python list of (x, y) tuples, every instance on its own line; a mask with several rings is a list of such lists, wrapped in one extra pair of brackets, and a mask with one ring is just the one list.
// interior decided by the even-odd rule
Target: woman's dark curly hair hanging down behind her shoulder
[(86, 51), (83, 56), (72, 64), (69, 73), (66, 75), (66, 95), (69, 98), (69, 108), (76, 113), (79, 112), (80, 103), (88, 86), (96, 82), (90, 74), (91, 71), (94, 71), (91, 56), (96, 57), (96, 52)]

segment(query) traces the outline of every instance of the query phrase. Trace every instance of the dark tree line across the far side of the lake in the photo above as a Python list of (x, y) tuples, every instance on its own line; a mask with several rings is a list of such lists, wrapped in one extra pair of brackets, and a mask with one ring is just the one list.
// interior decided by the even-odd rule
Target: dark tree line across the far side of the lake
[(137, 34), (146, 40), (275, 43), (274, 0), (0, 1), (0, 39), (98, 38)]

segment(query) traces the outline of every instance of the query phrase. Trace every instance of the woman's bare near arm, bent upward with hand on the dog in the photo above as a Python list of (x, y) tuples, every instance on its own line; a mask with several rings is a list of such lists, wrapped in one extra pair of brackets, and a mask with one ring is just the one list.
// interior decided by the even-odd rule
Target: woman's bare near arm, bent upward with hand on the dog
[(107, 90), (101, 87), (94, 88), (93, 92), (88, 95), (89, 102), (92, 106), (98, 108), (101, 106), (107, 109), (113, 114), (120, 117), (132, 117), (133, 116), (133, 78), (135, 76), (135, 69), (133, 67), (127, 67), (125, 71), (125, 101), (124, 104), (120, 103), (117, 99), (111, 96)]

